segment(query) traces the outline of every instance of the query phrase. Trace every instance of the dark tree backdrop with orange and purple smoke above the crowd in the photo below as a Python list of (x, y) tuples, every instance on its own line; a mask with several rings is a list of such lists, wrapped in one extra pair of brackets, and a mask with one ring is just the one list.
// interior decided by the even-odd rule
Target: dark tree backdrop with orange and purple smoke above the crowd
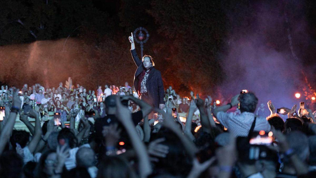
[(132, 85), (128, 36), (144, 27), (150, 34), (144, 54), (154, 58), (165, 88), (182, 96), (193, 90), (225, 98), (245, 88), (276, 96), (275, 86), (283, 86), (308, 98), (315, 86), (315, 13), (313, 0), (1, 1), (0, 81), (57, 87), (71, 77), (89, 89)]

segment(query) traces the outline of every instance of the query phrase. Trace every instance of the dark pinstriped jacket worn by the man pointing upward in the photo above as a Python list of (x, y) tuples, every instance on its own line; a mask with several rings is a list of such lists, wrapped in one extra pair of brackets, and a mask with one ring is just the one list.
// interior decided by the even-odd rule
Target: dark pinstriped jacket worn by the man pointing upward
[[(138, 88), (139, 75), (145, 70), (145, 67), (143, 66), (143, 62), (138, 58), (136, 49), (131, 50), (131, 54), (137, 66), (137, 70), (134, 75), (134, 87), (138, 93), (140, 90), (140, 88)], [(163, 100), (165, 91), (163, 88), (161, 73), (159, 70), (155, 69), (155, 67), (150, 70), (146, 81), (146, 88), (152, 106), (159, 108), (159, 104), (165, 103)]]

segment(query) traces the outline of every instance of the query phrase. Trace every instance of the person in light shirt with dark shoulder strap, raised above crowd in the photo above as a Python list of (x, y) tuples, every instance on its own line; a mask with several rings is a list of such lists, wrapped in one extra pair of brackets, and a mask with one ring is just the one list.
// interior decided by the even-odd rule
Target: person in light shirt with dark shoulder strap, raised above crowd
[[(258, 98), (254, 93), (248, 92), (241, 95), (236, 95), (231, 99), (231, 103), (227, 105), (219, 106), (214, 109), (213, 113), (216, 119), (227, 128), (227, 130), (235, 136), (246, 137), (249, 129), (255, 119), (255, 114), (258, 104)], [(233, 106), (239, 105), (240, 115), (234, 115), (234, 113), (226, 113)], [(255, 131), (270, 131), (271, 126), (264, 117), (256, 117)]]

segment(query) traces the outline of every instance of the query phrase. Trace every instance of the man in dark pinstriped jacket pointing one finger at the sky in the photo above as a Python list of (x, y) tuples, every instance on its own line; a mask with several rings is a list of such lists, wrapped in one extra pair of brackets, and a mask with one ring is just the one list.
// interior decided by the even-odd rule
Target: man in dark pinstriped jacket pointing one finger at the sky
[[(163, 109), (165, 107), (164, 88), (159, 70), (155, 69), (153, 58), (149, 55), (144, 55), (143, 60), (140, 60), (136, 54), (133, 33), (129, 37), (131, 42), (131, 54), (137, 66), (134, 76), (134, 87), (141, 100), (149, 105)], [(150, 118), (150, 117), (149, 117)]]

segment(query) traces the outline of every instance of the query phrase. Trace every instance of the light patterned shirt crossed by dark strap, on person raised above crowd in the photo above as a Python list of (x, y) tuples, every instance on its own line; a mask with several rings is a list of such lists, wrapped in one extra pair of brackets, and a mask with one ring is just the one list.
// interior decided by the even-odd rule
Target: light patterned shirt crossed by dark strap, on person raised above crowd
[[(220, 111), (217, 113), (216, 118), (235, 137), (247, 137), (255, 114), (252, 112), (242, 112), (240, 115), (234, 115), (234, 112), (226, 113)], [(257, 116), (254, 130), (268, 132), (271, 130), (271, 126), (266, 118)]]

